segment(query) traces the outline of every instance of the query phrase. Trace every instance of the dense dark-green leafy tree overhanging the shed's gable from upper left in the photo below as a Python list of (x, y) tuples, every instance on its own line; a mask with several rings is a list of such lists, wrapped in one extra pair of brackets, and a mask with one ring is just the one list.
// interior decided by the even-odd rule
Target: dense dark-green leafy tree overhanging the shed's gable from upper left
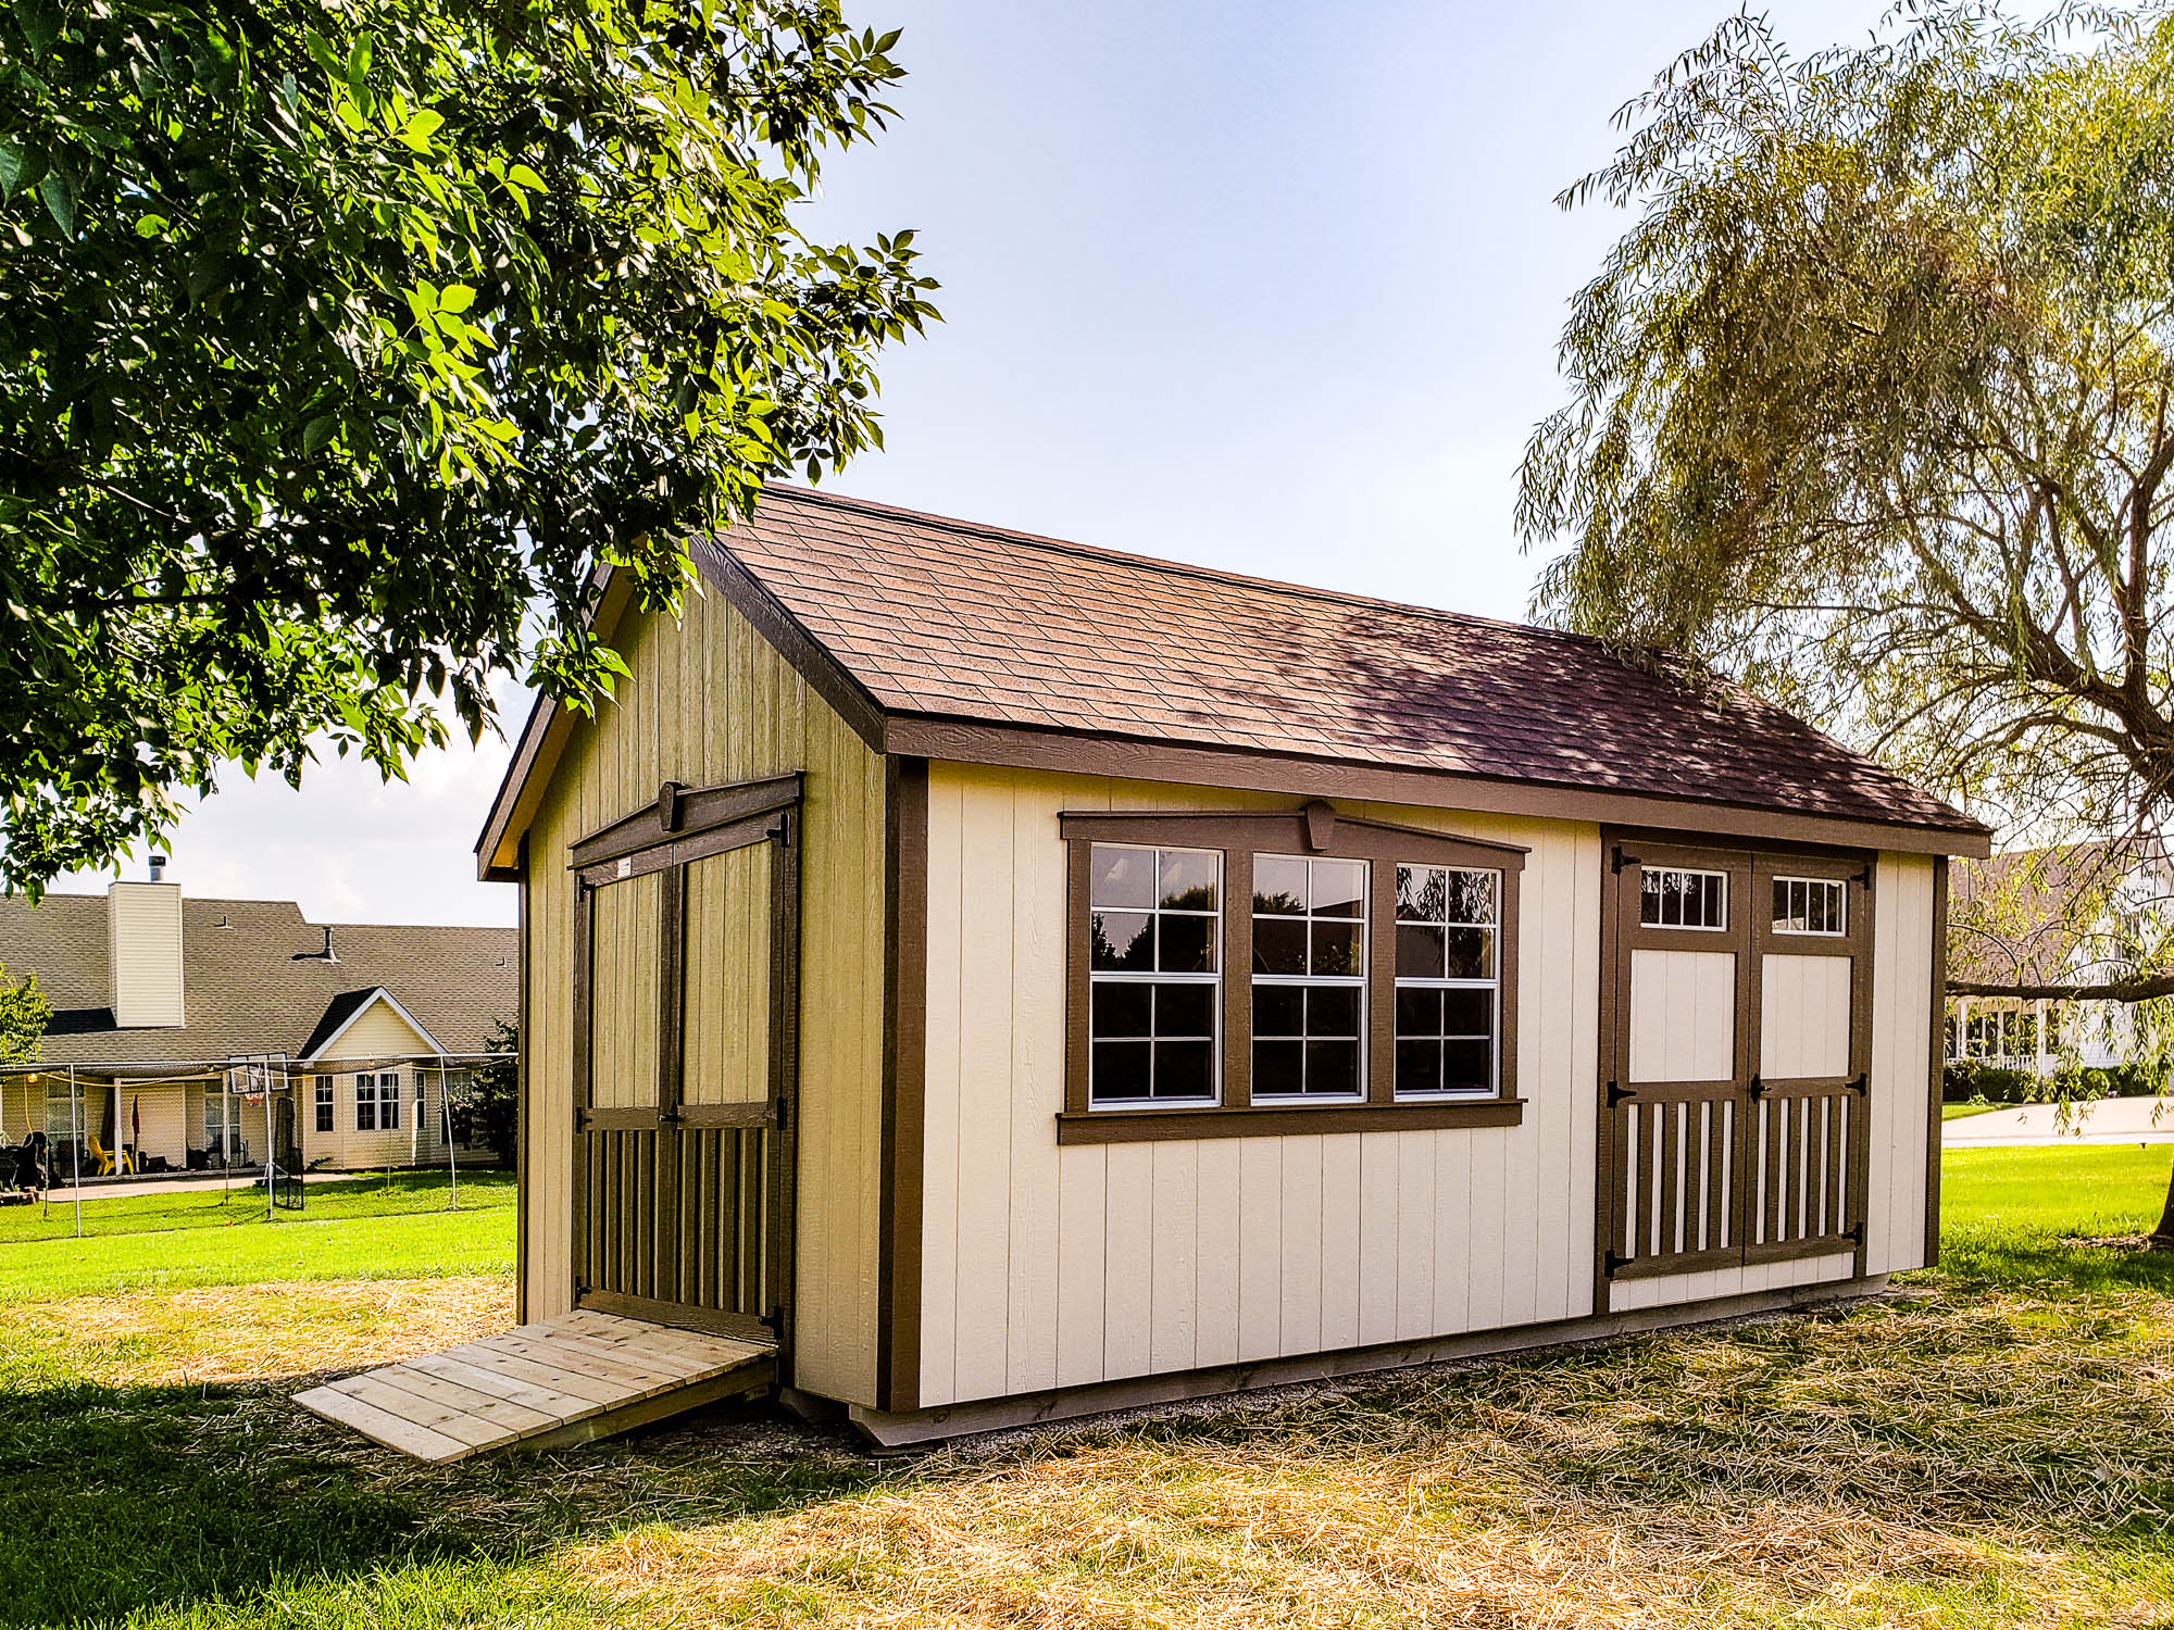
[[(598, 565), (880, 441), (911, 233), (802, 237), (896, 35), (837, 0), (0, 0), (0, 887), (328, 743), (387, 776)], [(530, 639), (524, 643), (524, 619)]]

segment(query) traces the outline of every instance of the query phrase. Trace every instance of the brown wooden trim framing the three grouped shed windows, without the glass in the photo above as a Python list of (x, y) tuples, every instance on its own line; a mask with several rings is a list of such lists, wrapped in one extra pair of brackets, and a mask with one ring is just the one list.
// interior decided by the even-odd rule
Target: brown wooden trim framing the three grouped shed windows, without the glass
[[(1515, 1126), (1517, 1098), (1517, 919), (1528, 850), (1487, 839), (1339, 817), (1326, 802), (1298, 811), (1065, 811), (1065, 1106), (1059, 1143), (1135, 1143), (1209, 1137), (1387, 1132), (1444, 1126)], [(1087, 1098), (1089, 1048), (1089, 854), (1094, 843), (1222, 850), (1222, 1091), (1215, 1104), (1096, 1108)], [(1252, 856), (1370, 861), (1365, 1100), (1291, 1102), (1252, 1098)], [(1396, 1095), (1396, 865), (1452, 865), (1502, 874), (1496, 954), (1500, 958), (1496, 1089), (1489, 1095)], [(1237, 969), (1237, 974), (1233, 971)], [(1239, 978), (1239, 974), (1244, 974)]]

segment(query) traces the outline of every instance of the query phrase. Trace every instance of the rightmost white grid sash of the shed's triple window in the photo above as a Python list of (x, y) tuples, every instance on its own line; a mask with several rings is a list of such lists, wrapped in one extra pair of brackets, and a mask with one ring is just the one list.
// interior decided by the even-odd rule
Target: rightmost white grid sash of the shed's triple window
[(1396, 869), (1396, 1095), (1491, 1093), (1502, 874)]

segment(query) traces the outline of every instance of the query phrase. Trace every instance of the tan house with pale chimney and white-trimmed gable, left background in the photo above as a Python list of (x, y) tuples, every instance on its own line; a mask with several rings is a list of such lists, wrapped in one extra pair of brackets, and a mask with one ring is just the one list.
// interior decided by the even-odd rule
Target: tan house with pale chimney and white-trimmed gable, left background
[(0, 1143), (80, 1141), (91, 1176), (254, 1165), (267, 1102), (285, 1098), (304, 1167), (441, 1163), (448, 1084), (459, 1098), (513, 1017), (515, 954), (509, 928), (191, 900), (157, 863), (104, 895), (0, 898), (0, 963), (52, 1002), (39, 1067), (0, 1082)]

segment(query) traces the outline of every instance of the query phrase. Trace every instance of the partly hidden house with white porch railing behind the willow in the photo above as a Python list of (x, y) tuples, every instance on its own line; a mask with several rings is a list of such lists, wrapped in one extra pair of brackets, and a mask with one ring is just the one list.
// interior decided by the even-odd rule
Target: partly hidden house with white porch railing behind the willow
[[(2174, 861), (2159, 843), (2011, 850), (1954, 869), (1950, 985), (2091, 985), (2174, 935)], [(2126, 1002), (1950, 995), (1948, 1061), (2050, 1076), (2063, 1058), (2117, 1069), (2137, 1058)]]

